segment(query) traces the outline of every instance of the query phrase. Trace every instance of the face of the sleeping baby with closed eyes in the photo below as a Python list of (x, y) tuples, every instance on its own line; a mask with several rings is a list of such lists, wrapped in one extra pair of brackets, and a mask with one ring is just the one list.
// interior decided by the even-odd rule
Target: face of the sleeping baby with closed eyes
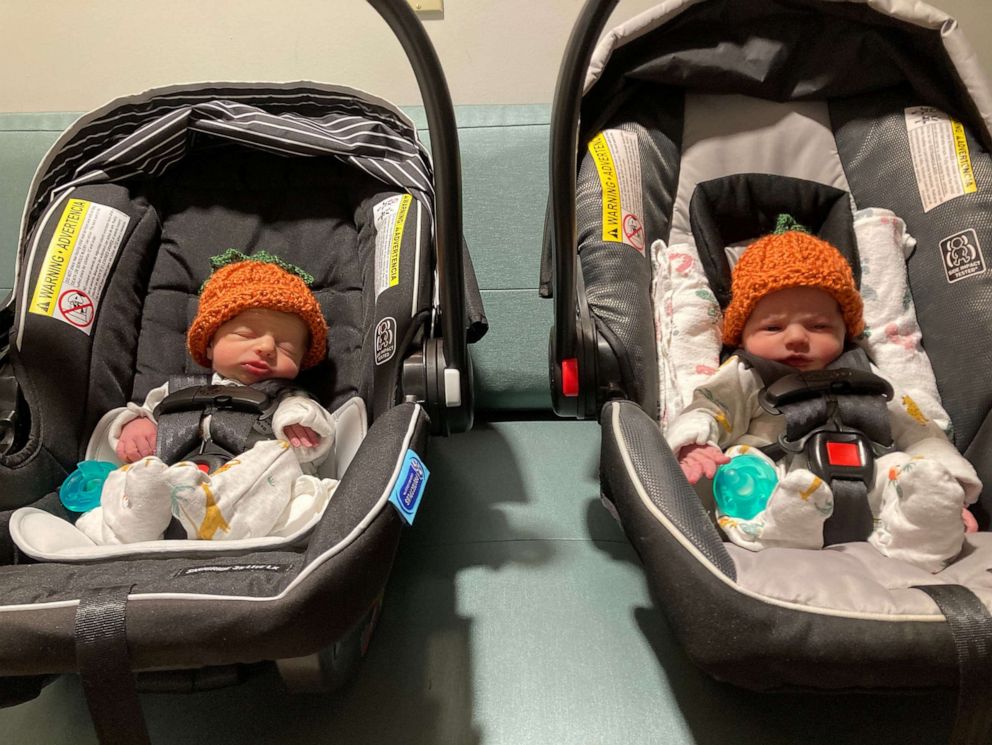
[(295, 378), (307, 351), (309, 329), (292, 313), (246, 310), (221, 324), (207, 348), (214, 372), (246, 385)]

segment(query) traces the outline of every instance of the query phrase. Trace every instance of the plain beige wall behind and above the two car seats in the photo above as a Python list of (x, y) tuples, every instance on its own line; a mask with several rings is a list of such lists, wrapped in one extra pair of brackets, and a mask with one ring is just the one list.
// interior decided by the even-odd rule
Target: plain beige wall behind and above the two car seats
[[(609, 25), (655, 5), (623, 0)], [(992, 71), (992, 2), (935, 0)], [(446, 0), (425, 22), (456, 104), (546, 103), (581, 0)], [(361, 0), (0, 0), (0, 111), (81, 111), (157, 85), (316, 79), (419, 103)]]

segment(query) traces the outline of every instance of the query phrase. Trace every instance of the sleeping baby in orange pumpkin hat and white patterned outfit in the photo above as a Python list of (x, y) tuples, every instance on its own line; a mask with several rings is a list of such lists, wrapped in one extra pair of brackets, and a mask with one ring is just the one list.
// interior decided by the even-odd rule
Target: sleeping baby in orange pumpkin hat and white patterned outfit
[[(203, 286), (187, 333), (189, 352), (212, 369), (212, 385), (262, 389), (274, 398), (274, 410), (261, 418), (224, 420), (223, 429), (223, 413), (202, 420), (195, 414), (194, 430), (178, 438), (181, 460), (174, 464), (163, 450), (176, 438), (163, 440), (155, 418), (156, 408), (174, 392), (169, 383), (140, 406), (117, 410), (109, 444), (127, 465), (108, 476), (100, 507), (76, 521), (96, 543), (162, 538), (173, 516), (190, 538), (288, 534), (323, 509), (336, 485), (314, 475), (333, 448), (334, 420), (289, 384), (325, 355), (327, 325), (307, 286), (310, 278), (265, 253), (249, 258), (229, 251), (213, 263), (216, 271)], [(271, 434), (263, 423), (269, 418)], [(187, 459), (199, 448), (184, 452), (181, 443), (192, 437), (211, 444), (219, 432), (243, 427), (239, 421), (250, 425), (244, 427), (250, 429), (244, 452), (232, 453), (210, 473)], [(259, 430), (266, 434), (259, 436)]]

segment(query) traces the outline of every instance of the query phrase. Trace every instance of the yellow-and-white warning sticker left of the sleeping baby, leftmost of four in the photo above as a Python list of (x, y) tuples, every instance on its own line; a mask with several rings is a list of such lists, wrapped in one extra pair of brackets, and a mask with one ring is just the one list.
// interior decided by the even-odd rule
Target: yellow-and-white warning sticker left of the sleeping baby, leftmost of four
[(70, 199), (45, 252), (28, 312), (90, 334), (128, 222), (130, 218), (113, 207)]

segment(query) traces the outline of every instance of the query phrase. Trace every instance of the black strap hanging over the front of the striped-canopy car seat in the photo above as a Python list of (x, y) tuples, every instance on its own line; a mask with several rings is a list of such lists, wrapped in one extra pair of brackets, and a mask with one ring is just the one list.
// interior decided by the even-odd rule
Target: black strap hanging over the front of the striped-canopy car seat
[(101, 745), (150, 745), (127, 651), (131, 586), (83, 595), (76, 609), (76, 665)]

